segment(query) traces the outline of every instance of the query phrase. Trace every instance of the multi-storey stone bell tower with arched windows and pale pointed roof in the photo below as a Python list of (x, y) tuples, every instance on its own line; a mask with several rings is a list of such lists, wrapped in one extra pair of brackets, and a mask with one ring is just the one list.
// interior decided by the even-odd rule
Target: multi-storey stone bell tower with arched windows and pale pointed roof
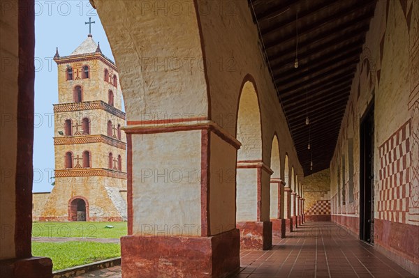
[(54, 56), (55, 185), (40, 220), (126, 220), (126, 137), (117, 67), (91, 36)]

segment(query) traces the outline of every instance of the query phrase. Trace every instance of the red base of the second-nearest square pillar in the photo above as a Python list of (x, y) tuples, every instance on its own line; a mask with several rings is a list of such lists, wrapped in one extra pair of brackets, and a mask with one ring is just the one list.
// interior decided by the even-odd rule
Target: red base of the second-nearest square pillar
[(272, 248), (272, 222), (237, 222), (236, 226), (240, 229), (240, 249)]

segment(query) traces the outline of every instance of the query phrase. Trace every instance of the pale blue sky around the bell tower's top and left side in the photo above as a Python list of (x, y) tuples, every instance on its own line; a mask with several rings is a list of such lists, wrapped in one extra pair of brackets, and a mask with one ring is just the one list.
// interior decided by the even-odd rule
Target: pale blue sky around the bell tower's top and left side
[(101, 43), (105, 56), (114, 60), (101, 20), (89, 1), (35, 1), (35, 138), (34, 192), (52, 190), (54, 169), (54, 117), (52, 105), (58, 102), (57, 64), (52, 60), (55, 47), (59, 54), (71, 54), (89, 33)]

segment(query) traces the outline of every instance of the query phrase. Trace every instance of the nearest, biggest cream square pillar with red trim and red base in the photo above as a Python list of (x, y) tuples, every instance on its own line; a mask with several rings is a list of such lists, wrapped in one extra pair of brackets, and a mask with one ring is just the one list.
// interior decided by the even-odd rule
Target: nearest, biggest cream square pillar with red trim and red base
[(124, 130), (128, 235), (121, 238), (122, 277), (237, 272), (234, 169), (240, 143), (212, 121), (140, 123)]

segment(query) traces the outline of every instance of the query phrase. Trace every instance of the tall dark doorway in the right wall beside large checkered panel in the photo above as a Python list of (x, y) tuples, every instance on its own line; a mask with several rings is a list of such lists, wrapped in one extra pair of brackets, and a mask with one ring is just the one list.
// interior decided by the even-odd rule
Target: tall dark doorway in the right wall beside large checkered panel
[(374, 244), (374, 103), (360, 125), (360, 239)]

